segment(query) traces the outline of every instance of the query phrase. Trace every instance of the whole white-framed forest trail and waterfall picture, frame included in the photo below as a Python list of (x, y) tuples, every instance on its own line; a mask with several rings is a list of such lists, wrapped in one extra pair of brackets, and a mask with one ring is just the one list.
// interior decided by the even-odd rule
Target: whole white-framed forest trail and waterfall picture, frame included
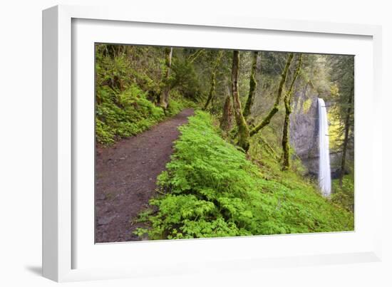
[(43, 276), (381, 260), (380, 68), (379, 26), (43, 11)]

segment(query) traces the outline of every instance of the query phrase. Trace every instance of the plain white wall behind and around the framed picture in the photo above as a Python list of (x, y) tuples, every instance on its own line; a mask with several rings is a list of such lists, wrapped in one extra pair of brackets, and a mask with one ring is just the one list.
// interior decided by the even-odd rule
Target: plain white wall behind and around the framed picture
[[(124, 5), (162, 13), (228, 12), (267, 18), (383, 26), (384, 182), (391, 177), (392, 21), (386, 0), (279, 1), (8, 0), (0, 4), (0, 284), (54, 286), (41, 273), (41, 10), (56, 4)], [(253, 2), (253, 3), (252, 3)], [(231, 6), (233, 5), (233, 6)], [(234, 6), (236, 5), (236, 6)], [(384, 184), (383, 262), (269, 268), (149, 279), (66, 283), (67, 286), (392, 286), (391, 188)], [(389, 205), (389, 204), (388, 204)], [(5, 281), (5, 282), (4, 282)]]

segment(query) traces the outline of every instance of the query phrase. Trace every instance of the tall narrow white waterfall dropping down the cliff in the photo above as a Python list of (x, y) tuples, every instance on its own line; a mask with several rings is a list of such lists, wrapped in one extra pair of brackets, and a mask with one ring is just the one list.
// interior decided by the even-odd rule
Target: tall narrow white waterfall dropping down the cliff
[(319, 187), (324, 197), (331, 194), (331, 167), (329, 165), (328, 118), (324, 100), (319, 98)]

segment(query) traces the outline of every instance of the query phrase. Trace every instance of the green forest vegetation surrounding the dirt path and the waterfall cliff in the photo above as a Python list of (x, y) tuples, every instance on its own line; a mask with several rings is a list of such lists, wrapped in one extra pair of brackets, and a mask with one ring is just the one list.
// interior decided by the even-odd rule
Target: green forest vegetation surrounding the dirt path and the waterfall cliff
[[(294, 117), (328, 105), (333, 193), (295, 150)], [(354, 229), (354, 56), (96, 45), (96, 140), (110, 147), (194, 108), (140, 238)]]

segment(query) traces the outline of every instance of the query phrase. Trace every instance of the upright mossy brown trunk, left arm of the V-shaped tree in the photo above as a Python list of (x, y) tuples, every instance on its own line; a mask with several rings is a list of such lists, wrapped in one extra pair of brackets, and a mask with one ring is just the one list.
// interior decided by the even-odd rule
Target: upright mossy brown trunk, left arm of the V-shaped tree
[(249, 150), (249, 128), (242, 115), (241, 102), (239, 101), (238, 92), (238, 74), (239, 74), (239, 51), (233, 51), (233, 64), (232, 64), (232, 99), (234, 116), (238, 126), (238, 145), (247, 152)]

